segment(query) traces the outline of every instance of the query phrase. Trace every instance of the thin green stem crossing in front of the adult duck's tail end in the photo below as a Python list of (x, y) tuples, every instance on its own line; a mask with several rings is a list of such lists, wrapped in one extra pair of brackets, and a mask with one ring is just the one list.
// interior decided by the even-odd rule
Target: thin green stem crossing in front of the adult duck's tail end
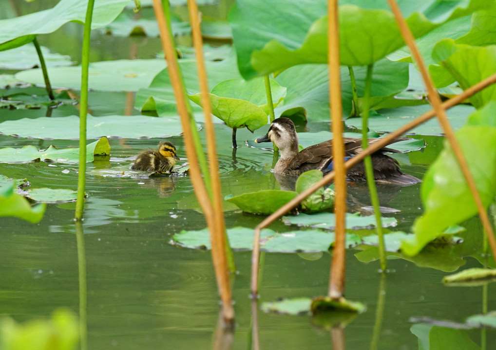
[[(369, 140), (367, 137), (367, 131), (369, 130), (369, 98), (371, 96), (372, 90), (372, 68), (373, 65), (367, 67), (367, 78), (365, 82), (365, 95), (364, 95), (364, 110), (362, 112), (362, 149), (367, 149), (369, 147)], [(371, 195), (371, 201), (373, 206), (373, 211), (375, 215), (375, 221), (377, 224), (377, 235), (379, 236), (379, 258), (380, 258), (380, 269), (382, 272), (386, 271), (386, 254), (384, 247), (384, 237), (382, 232), (382, 220), (380, 216), (379, 209), (379, 198), (377, 196), (377, 188), (375, 187), (375, 180), (373, 175), (372, 158), (367, 156), (364, 159), (365, 172), (367, 175), (367, 185), (369, 186), (369, 193)]]

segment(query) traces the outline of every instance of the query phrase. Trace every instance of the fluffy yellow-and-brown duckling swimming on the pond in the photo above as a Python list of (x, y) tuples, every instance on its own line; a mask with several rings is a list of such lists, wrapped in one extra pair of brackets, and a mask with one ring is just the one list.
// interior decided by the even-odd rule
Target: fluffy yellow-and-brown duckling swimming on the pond
[(176, 165), (176, 159), (179, 160), (176, 147), (169, 141), (162, 141), (158, 144), (158, 150), (148, 149), (139, 152), (131, 169), (170, 173)]

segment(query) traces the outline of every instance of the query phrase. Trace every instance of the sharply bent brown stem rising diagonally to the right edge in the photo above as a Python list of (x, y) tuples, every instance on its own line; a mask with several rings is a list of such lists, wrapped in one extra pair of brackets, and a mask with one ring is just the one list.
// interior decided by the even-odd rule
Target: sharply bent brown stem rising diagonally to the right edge
[[(474, 86), (468, 88), (465, 90), (463, 93), (445, 101), (442, 103), (443, 108), (451, 108), (458, 103), (461, 103), (463, 100), (468, 99), (472, 95), (477, 94), (479, 91), (487, 88), (488, 86), (496, 83), (496, 74), (493, 74), (492, 76), (482, 80), (481, 82), (475, 84)], [(412, 120), (411, 122), (403, 125), (402, 127), (398, 128), (396, 131), (392, 132), (385, 138), (373, 143), (367, 150), (364, 150), (357, 154), (356, 156), (352, 157), (348, 161), (345, 162), (345, 167), (346, 169), (350, 169), (352, 166), (358, 164), (362, 159), (365, 158), (365, 156), (372, 154), (373, 152), (380, 150), (381, 148), (385, 147), (388, 145), (392, 140), (397, 138), (398, 136), (401, 136), (408, 131), (414, 129), (415, 127), (425, 123), (426, 121), (432, 119), (435, 117), (435, 112), (434, 109), (431, 109), (430, 111), (422, 114), (415, 120)], [(290, 200), (283, 206), (281, 206), (279, 209), (277, 209), (274, 213), (271, 215), (267, 216), (261, 223), (259, 223), (255, 227), (254, 231), (254, 237), (253, 237), (253, 251), (251, 253), (251, 294), (253, 296), (256, 296), (258, 294), (258, 257), (260, 254), (260, 230), (263, 228), (266, 228), (270, 224), (272, 224), (274, 221), (278, 220), (281, 216), (286, 214), (288, 211), (292, 210), (294, 207), (296, 207), (302, 200), (305, 200), (307, 197), (309, 197), (312, 193), (317, 191), (320, 187), (328, 184), (334, 179), (335, 172), (331, 171), (330, 173), (326, 174), (321, 180), (317, 181), (314, 183), (310, 188), (307, 190), (303, 191), (300, 193), (297, 197), (295, 197), (293, 200)]]

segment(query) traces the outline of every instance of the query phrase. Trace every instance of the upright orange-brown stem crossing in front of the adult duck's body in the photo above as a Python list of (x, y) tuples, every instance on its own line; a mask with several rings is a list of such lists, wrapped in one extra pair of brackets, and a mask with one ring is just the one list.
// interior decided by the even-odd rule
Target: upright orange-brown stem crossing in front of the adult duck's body
[(328, 0), (328, 64), (329, 64), (329, 102), (331, 104), (332, 157), (334, 160), (336, 198), (334, 213), (336, 229), (332, 265), (329, 278), (328, 295), (339, 300), (344, 294), (346, 268), (346, 169), (344, 166), (343, 106), (341, 104), (341, 80), (339, 62), (339, 17), (338, 1)]

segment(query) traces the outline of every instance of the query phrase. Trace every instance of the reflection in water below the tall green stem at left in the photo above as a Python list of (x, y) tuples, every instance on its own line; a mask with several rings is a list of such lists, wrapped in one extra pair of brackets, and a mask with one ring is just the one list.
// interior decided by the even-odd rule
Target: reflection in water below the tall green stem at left
[(83, 223), (76, 221), (77, 266), (79, 268), (79, 337), (81, 350), (88, 349), (86, 250), (84, 249)]

